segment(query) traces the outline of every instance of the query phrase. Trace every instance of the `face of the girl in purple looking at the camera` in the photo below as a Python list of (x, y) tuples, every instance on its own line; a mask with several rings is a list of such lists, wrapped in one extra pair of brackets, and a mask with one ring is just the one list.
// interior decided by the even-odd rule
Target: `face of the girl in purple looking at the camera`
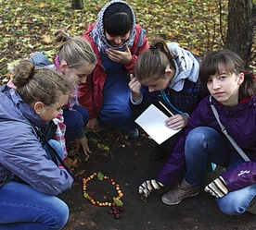
[(225, 68), (220, 65), (219, 72), (210, 76), (207, 81), (207, 88), (213, 98), (224, 106), (232, 107), (238, 103), (239, 87), (244, 80), (244, 74), (228, 73)]

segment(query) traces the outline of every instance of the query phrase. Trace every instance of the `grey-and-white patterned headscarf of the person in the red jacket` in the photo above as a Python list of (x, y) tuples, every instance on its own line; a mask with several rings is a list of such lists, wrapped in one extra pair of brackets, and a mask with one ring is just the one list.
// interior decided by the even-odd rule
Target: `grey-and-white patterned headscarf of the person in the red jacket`
[[(103, 25), (103, 17), (104, 17), (104, 13), (105, 13), (106, 9), (109, 6), (111, 6), (112, 4), (116, 4), (116, 3), (122, 3), (126, 6), (128, 6), (130, 8), (132, 16), (133, 16), (133, 26), (132, 26), (132, 30), (130, 31), (130, 36), (129, 36), (128, 40), (126, 42), (124, 42), (119, 47), (113, 46), (107, 41), (106, 36), (105, 36), (105, 31), (104, 31), (104, 25)], [(106, 49), (109, 49), (109, 48), (112, 48), (115, 50), (123, 50), (125, 44), (128, 44), (128, 47), (131, 48), (134, 44), (134, 37), (135, 37), (135, 15), (134, 15), (134, 11), (133, 11), (132, 7), (128, 3), (120, 1), (120, 0), (110, 1), (108, 4), (103, 6), (102, 9), (100, 10), (100, 12), (98, 13), (96, 27), (92, 31), (92, 35), (93, 35), (94, 42), (96, 43), (96, 45), (98, 47), (99, 52), (101, 51), (101, 52), (105, 53)]]

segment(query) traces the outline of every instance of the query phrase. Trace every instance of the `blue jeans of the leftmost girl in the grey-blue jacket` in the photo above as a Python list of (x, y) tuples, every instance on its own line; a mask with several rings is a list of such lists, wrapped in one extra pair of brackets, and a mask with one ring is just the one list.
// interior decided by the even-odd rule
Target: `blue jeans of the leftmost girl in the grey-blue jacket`
[[(63, 158), (64, 151), (58, 141), (50, 139), (49, 144)], [(68, 218), (69, 207), (55, 196), (15, 181), (0, 188), (0, 230), (61, 229)]]

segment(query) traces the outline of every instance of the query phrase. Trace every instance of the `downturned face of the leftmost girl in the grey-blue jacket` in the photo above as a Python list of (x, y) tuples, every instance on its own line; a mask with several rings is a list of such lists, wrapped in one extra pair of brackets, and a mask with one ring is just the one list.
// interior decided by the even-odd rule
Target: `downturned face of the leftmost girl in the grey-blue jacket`
[(58, 114), (61, 113), (61, 107), (64, 105), (64, 103), (68, 100), (69, 95), (61, 95), (58, 103), (55, 103), (50, 108), (47, 108), (46, 106), (42, 109), (38, 115), (41, 117), (41, 119), (45, 122), (48, 122), (55, 118)]

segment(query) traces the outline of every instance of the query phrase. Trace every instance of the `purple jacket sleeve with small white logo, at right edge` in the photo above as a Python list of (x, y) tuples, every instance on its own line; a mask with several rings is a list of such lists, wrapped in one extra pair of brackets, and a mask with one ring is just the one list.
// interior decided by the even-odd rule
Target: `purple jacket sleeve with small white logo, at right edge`
[(256, 162), (244, 162), (233, 170), (225, 171), (221, 176), (229, 192), (246, 188), (256, 183)]

